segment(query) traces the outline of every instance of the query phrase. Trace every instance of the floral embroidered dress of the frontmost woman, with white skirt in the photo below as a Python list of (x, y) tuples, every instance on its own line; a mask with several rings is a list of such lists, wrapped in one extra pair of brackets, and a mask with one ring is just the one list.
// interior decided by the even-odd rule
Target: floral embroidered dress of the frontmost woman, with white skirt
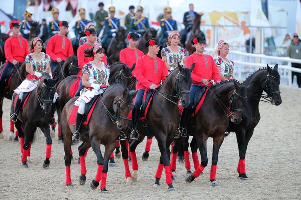
[[(89, 74), (89, 83), (100, 84), (102, 88), (106, 88), (109, 86), (110, 68), (104, 62), (102, 62), (102, 65), (103, 69), (99, 69), (92, 62), (89, 62), (84, 65), (83, 73)], [(80, 96), (74, 102), (74, 104), (79, 106), (81, 100), (84, 100), (86, 103), (88, 103), (94, 96), (102, 93), (102, 89), (95, 90), (92, 87), (85, 87), (80, 91)]]

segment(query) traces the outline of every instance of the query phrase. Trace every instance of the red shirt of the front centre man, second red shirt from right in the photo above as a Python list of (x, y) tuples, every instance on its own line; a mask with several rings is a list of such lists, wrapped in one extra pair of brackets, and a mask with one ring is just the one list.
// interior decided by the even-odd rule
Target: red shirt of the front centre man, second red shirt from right
[(148, 90), (152, 84), (159, 86), (161, 80), (164, 81), (168, 75), (164, 61), (158, 57), (153, 59), (148, 55), (144, 55), (137, 60), (135, 73), (138, 80), (137, 90)]

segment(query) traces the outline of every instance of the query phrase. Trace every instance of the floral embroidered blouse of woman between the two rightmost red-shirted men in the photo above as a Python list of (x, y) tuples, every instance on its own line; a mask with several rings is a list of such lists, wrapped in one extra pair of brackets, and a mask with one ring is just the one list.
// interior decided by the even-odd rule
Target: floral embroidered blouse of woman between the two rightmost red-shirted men
[(183, 60), (186, 57), (186, 54), (187, 51), (180, 46), (178, 46), (178, 53), (176, 54), (171, 51), (169, 46), (161, 50), (161, 57), (166, 56), (168, 65), (170, 65), (174, 69), (178, 67), (178, 62), (180, 63), (180, 65), (184, 66)]

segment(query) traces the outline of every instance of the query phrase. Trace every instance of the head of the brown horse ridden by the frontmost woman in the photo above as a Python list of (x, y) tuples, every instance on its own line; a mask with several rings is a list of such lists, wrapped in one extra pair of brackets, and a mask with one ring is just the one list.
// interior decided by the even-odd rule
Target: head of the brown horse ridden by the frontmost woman
[[(121, 85), (120, 88), (118, 85)], [(111, 85), (112, 86), (112, 85)], [(115, 112), (116, 125), (119, 130), (127, 128), (127, 120), (129, 111), (134, 108), (133, 98), (136, 96), (136, 91), (128, 91), (122, 84), (116, 84), (118, 89), (107, 90), (113, 92), (113, 110)]]

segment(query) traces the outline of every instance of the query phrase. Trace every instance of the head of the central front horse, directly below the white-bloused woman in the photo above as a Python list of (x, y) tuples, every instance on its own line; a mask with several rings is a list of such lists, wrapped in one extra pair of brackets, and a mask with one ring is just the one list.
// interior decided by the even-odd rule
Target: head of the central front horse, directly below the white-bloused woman
[(175, 90), (177, 97), (180, 99), (180, 105), (187, 107), (190, 103), (190, 86), (192, 84), (191, 72), (194, 69), (195, 64), (192, 64), (190, 69), (182, 67), (178, 63), (178, 74), (175, 76)]

